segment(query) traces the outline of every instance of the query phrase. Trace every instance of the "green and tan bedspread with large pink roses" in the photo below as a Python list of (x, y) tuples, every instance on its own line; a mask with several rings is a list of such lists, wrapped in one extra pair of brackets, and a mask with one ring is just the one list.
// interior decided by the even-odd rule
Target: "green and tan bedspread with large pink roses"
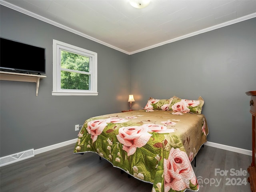
[(203, 114), (135, 110), (89, 118), (74, 153), (96, 152), (152, 192), (199, 190), (191, 161), (206, 142)]

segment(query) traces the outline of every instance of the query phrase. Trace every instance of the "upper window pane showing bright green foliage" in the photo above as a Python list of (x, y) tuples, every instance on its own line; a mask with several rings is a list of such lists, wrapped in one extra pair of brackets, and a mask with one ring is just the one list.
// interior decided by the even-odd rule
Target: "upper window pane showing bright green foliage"
[(89, 72), (90, 58), (61, 50), (61, 68)]

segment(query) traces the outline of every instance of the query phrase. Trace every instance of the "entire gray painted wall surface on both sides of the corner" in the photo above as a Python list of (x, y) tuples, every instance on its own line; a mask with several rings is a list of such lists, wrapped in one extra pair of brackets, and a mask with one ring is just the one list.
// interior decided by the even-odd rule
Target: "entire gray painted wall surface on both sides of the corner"
[[(205, 100), (208, 140), (251, 150), (248, 90), (256, 90), (256, 18), (128, 56), (0, 6), (2, 37), (46, 48), (46, 76), (0, 82), (0, 156), (76, 138), (91, 116), (133, 109), (148, 98)], [(98, 53), (98, 96), (52, 96), (52, 39)], [(29, 56), (29, 55), (28, 55)]]

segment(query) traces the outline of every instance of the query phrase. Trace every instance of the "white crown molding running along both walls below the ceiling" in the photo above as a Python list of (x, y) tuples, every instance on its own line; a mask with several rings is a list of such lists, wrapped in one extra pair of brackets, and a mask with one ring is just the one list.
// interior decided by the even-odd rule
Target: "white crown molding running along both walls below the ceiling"
[(98, 40), (98, 39), (96, 39), (96, 38), (93, 38), (92, 36), (86, 35), (86, 34), (84, 34), (84, 33), (82, 33), (82, 32), (79, 32), (79, 31), (77, 31), (77, 30), (74, 30), (74, 29), (72, 29), (72, 28), (69, 28), (69, 27), (67, 27), (67, 26), (64, 26), (64, 25), (59, 24), (59, 23), (57, 23), (57, 22), (54, 22), (54, 21), (52, 21), (52, 20), (50, 20), (50, 19), (47, 19), (47, 18), (45, 18), (45, 17), (42, 17), (42, 16), (40, 16), (40, 15), (38, 15), (38, 14), (35, 14), (35, 13), (33, 13), (33, 12), (30, 12), (30, 11), (28, 11), (28, 10), (26, 10), (26, 9), (20, 8), (20, 7), (16, 6), (16, 5), (11, 4), (11, 3), (9, 3), (9, 2), (6, 2), (6, 1), (4, 1), (4, 0), (0, 0), (0, 5), (6, 6), (6, 7), (8, 7), (8, 8), (11, 8), (11, 9), (13, 9), (13, 10), (16, 10), (16, 11), (18, 11), (18, 12), (21, 12), (21, 13), (23, 13), (23, 14), (26, 14), (26, 15), (28, 15), (28, 16), (31, 16), (31, 17), (33, 17), (33, 18), (36, 18), (36, 19), (41, 20), (41, 21), (43, 21), (43, 22), (46, 22), (46, 23), (48, 23), (48, 24), (54, 25), (54, 26), (56, 26), (56, 27), (62, 28), (62, 29), (64, 29), (64, 30), (67, 30), (67, 31), (72, 32), (72, 33), (74, 33), (74, 34), (77, 34), (77, 35), (79, 35), (79, 36), (82, 36), (82, 37), (84, 37), (84, 38), (90, 39), (90, 40), (92, 40), (92, 41), (94, 41), (94, 42), (97, 42), (97, 43), (100, 43), (100, 44), (102, 44), (102, 45), (108, 46), (108, 47), (110, 47), (110, 48), (113, 48), (113, 49), (115, 49), (115, 50), (118, 50), (118, 51), (123, 52), (123, 53), (128, 54), (128, 55), (132, 55), (132, 54), (135, 54), (135, 53), (138, 53), (138, 52), (142, 52), (142, 51), (145, 51), (145, 50), (149, 50), (149, 49), (152, 49), (152, 48), (156, 48), (156, 47), (159, 47), (159, 46), (162, 46), (162, 45), (165, 45), (165, 44), (169, 44), (169, 43), (172, 43), (172, 42), (175, 42), (175, 41), (178, 41), (178, 40), (182, 40), (182, 39), (185, 39), (185, 38), (189, 38), (189, 37), (192, 37), (192, 36), (196, 36), (196, 35), (201, 34), (201, 33), (205, 33), (205, 32), (208, 32), (208, 31), (212, 31), (212, 30), (215, 30), (215, 29), (218, 29), (218, 28), (222, 28), (222, 27), (225, 27), (225, 26), (228, 26), (228, 25), (232, 25), (232, 24), (235, 24), (235, 23), (238, 23), (238, 22), (242, 22), (242, 21), (244, 21), (244, 20), (248, 20), (248, 19), (251, 19), (251, 18), (256, 17), (256, 13), (252, 13), (252, 14), (249, 14), (249, 15), (246, 15), (246, 16), (243, 16), (243, 17), (240, 17), (240, 18), (237, 18), (237, 19), (228, 21), (228, 22), (224, 22), (224, 23), (221, 23), (221, 24), (212, 26), (212, 27), (208, 27), (208, 28), (205, 28), (205, 29), (196, 31), (196, 32), (192, 32), (192, 33), (190, 33), (190, 34), (186, 34), (186, 35), (184, 35), (184, 36), (180, 36), (180, 37), (177, 37), (177, 38), (173, 38), (173, 39), (170, 39), (170, 40), (167, 40), (167, 41), (158, 43), (158, 44), (154, 44), (154, 45), (152, 45), (152, 46), (148, 46), (148, 47), (145, 47), (145, 48), (142, 48), (142, 49), (133, 51), (133, 52), (127, 52), (127, 51), (122, 50), (122, 49), (120, 49), (120, 48), (118, 48), (118, 47), (116, 47), (116, 46), (113, 46), (113, 45), (111, 45), (111, 44), (108, 44), (108, 43), (106, 43), (106, 42), (103, 42), (103, 41), (101, 41), (101, 40)]

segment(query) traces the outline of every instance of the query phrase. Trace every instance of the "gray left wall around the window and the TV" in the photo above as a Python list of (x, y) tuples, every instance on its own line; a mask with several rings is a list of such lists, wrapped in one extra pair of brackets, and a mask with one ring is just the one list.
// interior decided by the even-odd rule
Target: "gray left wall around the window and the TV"
[[(0, 156), (77, 138), (75, 124), (129, 108), (129, 55), (5, 6), (0, 18), (2, 37), (46, 48), (47, 76), (37, 97), (35, 83), (0, 81)], [(98, 96), (51, 95), (52, 39), (98, 53)]]

